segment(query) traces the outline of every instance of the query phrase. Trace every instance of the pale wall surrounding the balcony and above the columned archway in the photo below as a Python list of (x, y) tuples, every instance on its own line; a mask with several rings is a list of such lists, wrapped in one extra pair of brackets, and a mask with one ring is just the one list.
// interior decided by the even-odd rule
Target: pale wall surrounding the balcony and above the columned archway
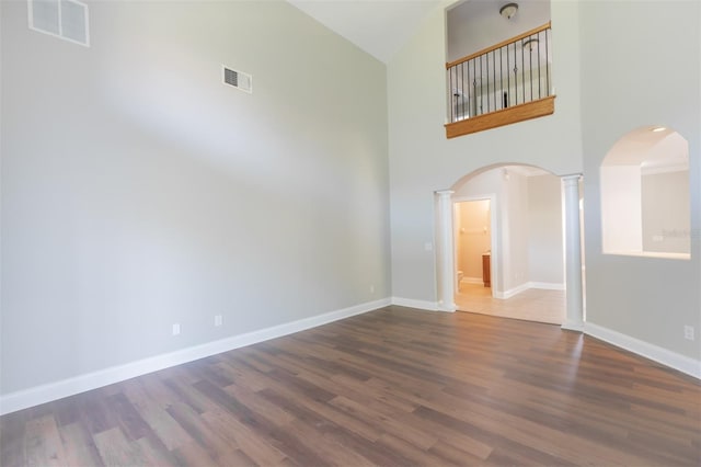
[[(447, 2), (446, 4), (449, 4)], [(392, 294), (435, 301), (433, 192), (499, 163), (582, 171), (578, 3), (555, 2), (554, 115), (446, 139), (445, 11), (437, 8), (388, 66)], [(554, 27), (558, 24), (558, 27)], [(533, 141), (538, 141), (537, 149)]]

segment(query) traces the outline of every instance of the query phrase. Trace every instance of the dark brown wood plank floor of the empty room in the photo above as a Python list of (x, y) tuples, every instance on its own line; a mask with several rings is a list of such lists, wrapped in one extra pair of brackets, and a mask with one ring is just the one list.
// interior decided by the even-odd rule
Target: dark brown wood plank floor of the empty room
[(556, 326), (388, 307), (0, 418), (9, 466), (699, 466), (696, 379)]

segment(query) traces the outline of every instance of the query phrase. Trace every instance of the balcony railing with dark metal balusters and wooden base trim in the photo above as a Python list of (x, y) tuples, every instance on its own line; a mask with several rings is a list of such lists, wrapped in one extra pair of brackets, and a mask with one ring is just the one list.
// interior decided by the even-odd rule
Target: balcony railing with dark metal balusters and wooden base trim
[(449, 138), (554, 112), (550, 23), (446, 64)]

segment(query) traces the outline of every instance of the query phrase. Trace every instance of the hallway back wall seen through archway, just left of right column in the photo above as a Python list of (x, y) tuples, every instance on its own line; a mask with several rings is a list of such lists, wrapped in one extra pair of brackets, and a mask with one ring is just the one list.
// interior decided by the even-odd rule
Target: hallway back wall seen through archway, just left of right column
[(528, 178), (528, 280), (564, 286), (562, 183), (550, 174)]

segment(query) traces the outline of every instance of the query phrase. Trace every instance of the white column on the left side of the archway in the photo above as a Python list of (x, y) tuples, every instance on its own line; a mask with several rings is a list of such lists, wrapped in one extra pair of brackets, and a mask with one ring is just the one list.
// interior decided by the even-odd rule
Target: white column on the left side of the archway
[(452, 191), (436, 192), (437, 201), (437, 239), (436, 239), (436, 275), (438, 280), (438, 310), (455, 311), (455, 266), (452, 246)]

